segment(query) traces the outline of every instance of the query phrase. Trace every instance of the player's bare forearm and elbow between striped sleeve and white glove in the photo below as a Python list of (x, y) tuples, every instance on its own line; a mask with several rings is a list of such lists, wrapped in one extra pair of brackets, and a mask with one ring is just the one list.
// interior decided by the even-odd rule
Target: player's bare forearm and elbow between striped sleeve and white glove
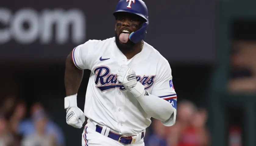
[(84, 70), (81, 70), (75, 66), (72, 60), (72, 52), (70, 52), (66, 59), (66, 69), (64, 78), (66, 96), (71, 96), (78, 92), (78, 89), (83, 79), (83, 75)]

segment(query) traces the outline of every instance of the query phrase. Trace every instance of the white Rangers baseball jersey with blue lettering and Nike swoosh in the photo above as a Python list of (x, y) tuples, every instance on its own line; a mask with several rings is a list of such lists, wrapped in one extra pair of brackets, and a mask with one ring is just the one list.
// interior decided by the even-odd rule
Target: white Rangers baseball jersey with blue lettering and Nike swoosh
[(129, 61), (116, 46), (115, 37), (89, 40), (74, 48), (72, 56), (77, 68), (91, 70), (85, 116), (119, 134), (137, 134), (151, 124), (151, 117), (137, 99), (118, 83), (121, 65), (135, 71), (137, 81), (148, 93), (166, 100), (176, 98), (168, 61), (146, 42), (142, 51)]

